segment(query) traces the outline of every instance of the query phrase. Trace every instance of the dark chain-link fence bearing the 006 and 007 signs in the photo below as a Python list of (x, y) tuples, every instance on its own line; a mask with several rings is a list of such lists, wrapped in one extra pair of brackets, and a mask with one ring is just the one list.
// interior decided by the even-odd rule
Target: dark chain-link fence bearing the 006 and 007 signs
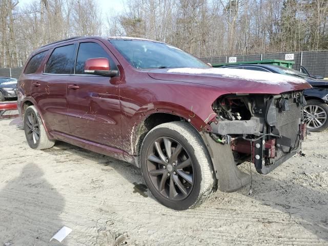
[[(285, 53), (270, 53), (270, 54), (252, 54), (252, 55), (229, 55), (216, 57), (200, 57), (206, 63), (220, 64), (229, 63), (229, 57), (236, 57), (236, 62), (254, 61), (254, 60), (284, 60), (286, 55), (293, 54), (294, 69), (299, 70), (300, 66), (305, 67), (310, 74), (321, 75), (328, 77), (328, 50), (320, 51), (302, 51), (302, 52), (285, 52)], [(292, 56), (289, 56), (291, 58)], [(234, 64), (234, 63), (231, 63)]]

